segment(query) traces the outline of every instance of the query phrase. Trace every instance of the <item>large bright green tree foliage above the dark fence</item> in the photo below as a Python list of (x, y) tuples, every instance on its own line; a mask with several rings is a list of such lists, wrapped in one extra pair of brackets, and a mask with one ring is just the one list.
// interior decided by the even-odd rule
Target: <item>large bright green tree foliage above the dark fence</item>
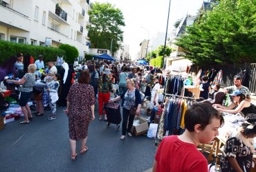
[(221, 0), (178, 39), (197, 64), (255, 63), (256, 1)]

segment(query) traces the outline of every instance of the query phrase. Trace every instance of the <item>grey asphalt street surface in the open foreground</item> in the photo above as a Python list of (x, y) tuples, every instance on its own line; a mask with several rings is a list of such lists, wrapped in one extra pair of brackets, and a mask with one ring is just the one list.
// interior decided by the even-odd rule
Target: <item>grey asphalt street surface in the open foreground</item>
[[(34, 116), (28, 125), (19, 121), (8, 123), (0, 131), (0, 171), (146, 171), (152, 168), (156, 147), (147, 136), (128, 136), (120, 140), (116, 125), (95, 120), (89, 125), (87, 151), (71, 160), (68, 137), (68, 118), (64, 107), (57, 107), (57, 119)], [(34, 112), (34, 111), (33, 111)], [(121, 127), (120, 127), (121, 128)]]

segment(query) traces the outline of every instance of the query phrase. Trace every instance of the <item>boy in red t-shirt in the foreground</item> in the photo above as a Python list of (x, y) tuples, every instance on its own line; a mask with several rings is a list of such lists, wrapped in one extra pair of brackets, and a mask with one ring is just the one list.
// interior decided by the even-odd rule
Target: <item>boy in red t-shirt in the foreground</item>
[(219, 134), (223, 122), (223, 116), (214, 107), (194, 103), (185, 112), (185, 132), (162, 140), (153, 171), (208, 171), (208, 162), (196, 146), (209, 144)]

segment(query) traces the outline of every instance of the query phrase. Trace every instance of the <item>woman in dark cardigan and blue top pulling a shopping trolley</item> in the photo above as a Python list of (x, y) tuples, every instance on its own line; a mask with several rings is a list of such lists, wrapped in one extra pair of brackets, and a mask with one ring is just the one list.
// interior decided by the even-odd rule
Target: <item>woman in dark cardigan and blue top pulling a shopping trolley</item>
[[(140, 115), (140, 107), (141, 107), (141, 97), (138, 89), (134, 87), (135, 85), (134, 78), (128, 79), (126, 81), (127, 91), (123, 92), (121, 96), (118, 96), (112, 100), (111, 102), (118, 101), (122, 99), (122, 136), (121, 140), (125, 139), (126, 133), (129, 137), (131, 137), (131, 127), (134, 123), (134, 116)], [(127, 129), (127, 121), (129, 118), (128, 129)]]

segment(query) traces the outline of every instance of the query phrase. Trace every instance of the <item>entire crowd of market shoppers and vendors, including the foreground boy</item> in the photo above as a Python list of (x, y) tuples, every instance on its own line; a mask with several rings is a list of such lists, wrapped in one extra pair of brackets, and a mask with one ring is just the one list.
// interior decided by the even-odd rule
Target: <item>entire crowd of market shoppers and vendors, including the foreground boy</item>
[[(33, 120), (28, 105), (31, 97), (35, 101), (35, 116), (44, 116), (44, 108), (51, 108), (48, 120), (57, 118), (57, 106), (66, 107), (64, 112), (68, 116), (72, 160), (77, 156), (77, 140), (81, 140), (81, 154), (89, 149), (86, 146), (88, 127), (91, 120), (95, 119), (94, 105), (97, 99), (99, 110), (96, 118), (105, 121), (107, 114), (104, 105), (122, 100), (120, 140), (124, 140), (127, 135), (132, 136), (134, 117), (140, 116), (144, 100), (149, 100), (147, 108), (152, 111), (149, 123), (154, 120), (154, 109), (163, 108), (163, 97), (159, 90), (165, 87), (165, 78), (168, 76), (165, 69), (138, 65), (135, 62), (91, 60), (81, 64), (75, 61), (70, 65), (63, 62), (61, 66), (55, 66), (54, 61), (44, 63), (42, 55), (34, 63), (30, 56), (25, 58), (21, 53), (11, 56), (3, 63), (0, 72), (0, 79), (6, 87), (19, 87), (19, 105), (24, 114), (21, 124), (30, 124)], [(253, 162), (256, 108), (251, 103), (248, 88), (241, 85), (241, 76), (235, 76), (234, 85), (226, 88), (220, 88), (220, 85), (211, 87), (208, 77), (203, 76), (200, 91), (200, 100), (214, 99), (214, 94), (224, 92), (230, 94), (232, 103), (228, 106), (208, 105), (200, 103), (200, 100), (199, 103), (194, 103), (185, 112), (185, 132), (180, 136), (168, 136), (162, 140), (156, 153), (153, 171), (208, 171), (208, 162), (196, 150), (196, 146), (199, 143), (209, 144), (218, 135), (218, 129), (224, 122), (221, 112), (242, 112), (241, 116), (245, 120), (241, 128), (230, 134), (220, 169), (248, 171)], [(237, 150), (231, 149), (229, 145), (237, 146)], [(247, 150), (246, 153), (244, 150)]]

